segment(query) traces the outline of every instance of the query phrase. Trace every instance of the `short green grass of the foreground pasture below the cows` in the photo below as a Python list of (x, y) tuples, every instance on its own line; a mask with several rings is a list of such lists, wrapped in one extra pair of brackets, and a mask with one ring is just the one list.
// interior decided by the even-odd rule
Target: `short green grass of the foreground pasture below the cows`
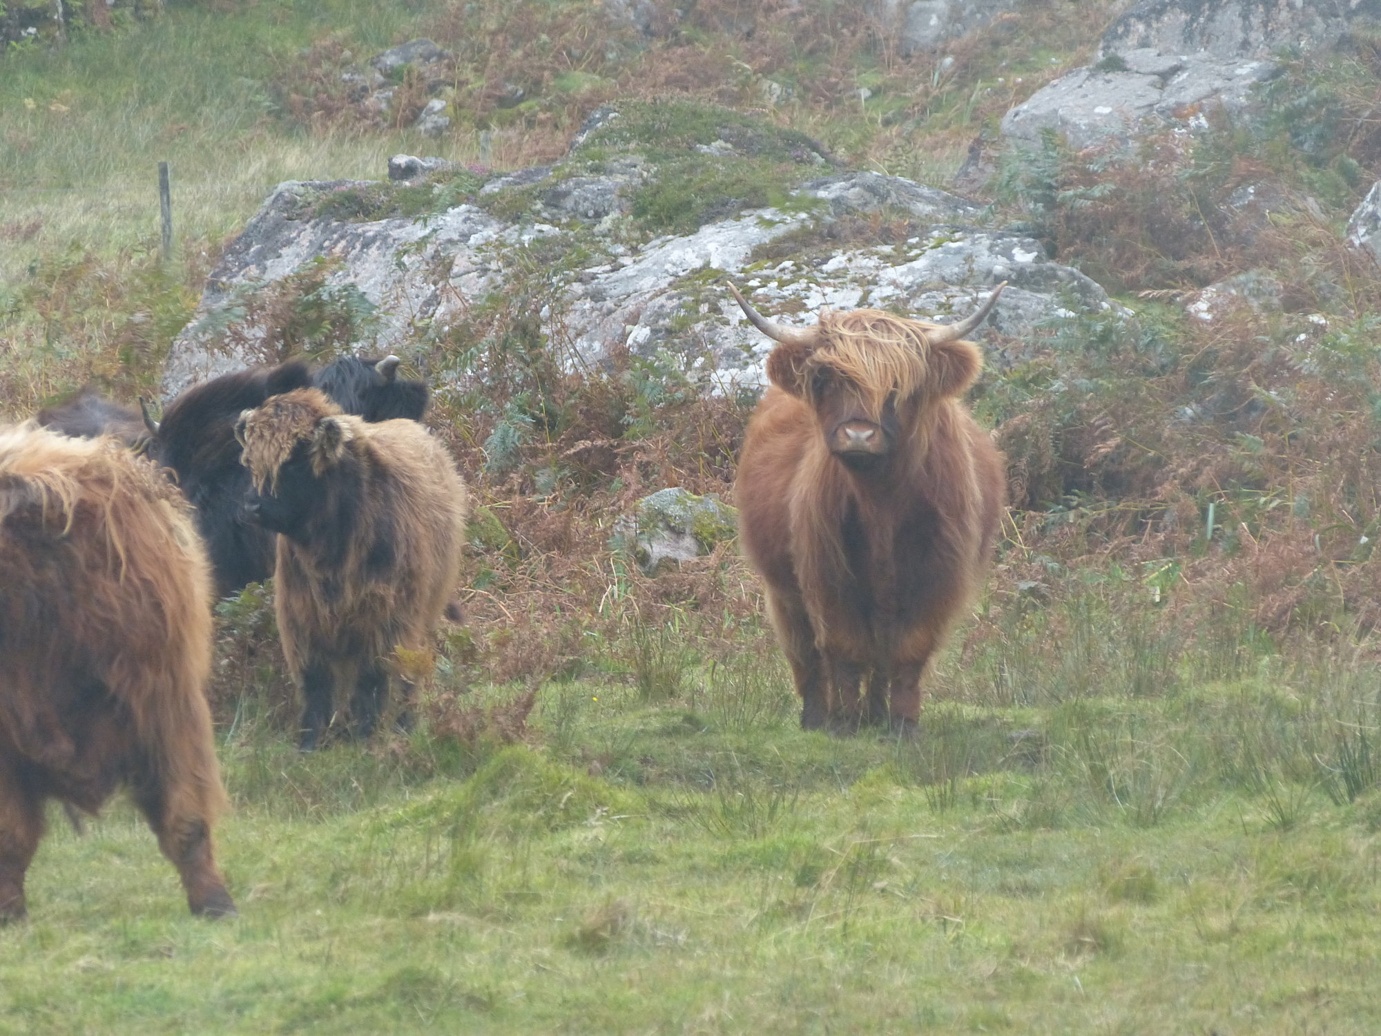
[(1381, 792), (1309, 771), (1324, 699), (935, 702), (916, 743), (830, 739), (764, 659), (656, 702), (550, 684), (530, 745), (307, 757), (242, 710), (240, 919), (186, 916), (127, 807), (55, 814), (0, 1030), (1371, 1032)]

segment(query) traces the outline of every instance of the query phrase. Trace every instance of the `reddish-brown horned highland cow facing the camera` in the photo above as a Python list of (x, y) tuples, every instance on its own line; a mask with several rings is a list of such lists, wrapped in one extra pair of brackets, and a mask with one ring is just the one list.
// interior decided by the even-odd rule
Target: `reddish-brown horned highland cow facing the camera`
[[(801, 693), (801, 725), (914, 728), (921, 677), (987, 564), (1003, 461), (960, 396), (982, 369), (956, 325), (878, 309), (779, 344), (739, 461), (739, 528)], [(866, 685), (865, 700), (860, 687)]]

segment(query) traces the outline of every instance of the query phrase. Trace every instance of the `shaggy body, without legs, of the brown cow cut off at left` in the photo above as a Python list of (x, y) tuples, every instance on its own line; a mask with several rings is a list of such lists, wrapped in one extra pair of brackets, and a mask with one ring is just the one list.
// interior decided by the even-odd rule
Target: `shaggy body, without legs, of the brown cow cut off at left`
[(186, 717), (209, 732), (210, 601), (186, 506), (152, 464), (112, 439), (0, 432), (0, 727), (22, 754), (70, 762), (108, 738), (91, 713), (109, 700), (145, 742)]

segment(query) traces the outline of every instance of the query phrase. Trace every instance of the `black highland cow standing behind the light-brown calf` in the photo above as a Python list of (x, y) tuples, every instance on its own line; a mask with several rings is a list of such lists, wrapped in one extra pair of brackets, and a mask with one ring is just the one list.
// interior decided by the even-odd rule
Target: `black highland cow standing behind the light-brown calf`
[(427, 409), (427, 385), (398, 378), (398, 356), (337, 359), (315, 374), (301, 361), (278, 367), (250, 367), (206, 381), (168, 403), (163, 420), (149, 423), (149, 456), (177, 472), (178, 485), (196, 507), (215, 570), (218, 597), (273, 575), (273, 536), (246, 521), (250, 477), (240, 464), (235, 423), (272, 395), (318, 385), (348, 413), (366, 421), (410, 419)]

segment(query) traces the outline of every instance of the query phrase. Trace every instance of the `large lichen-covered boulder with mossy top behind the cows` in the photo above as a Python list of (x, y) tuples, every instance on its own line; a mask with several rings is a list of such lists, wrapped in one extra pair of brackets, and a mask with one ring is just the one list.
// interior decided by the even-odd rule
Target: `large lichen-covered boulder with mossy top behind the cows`
[[(630, 105), (626, 115), (591, 115), (551, 166), (483, 180), (465, 166), (396, 156), (389, 182), (280, 185), (211, 272), (170, 349), (164, 392), (278, 359), (283, 336), (272, 322), (284, 298), (297, 304), (293, 291), (315, 307), (313, 319), (329, 297), (370, 309), (367, 327), (351, 325), (349, 341), (337, 336), (331, 349), (425, 361), (453, 351), (449, 336), (467, 314), (505, 305), (515, 279), (534, 268), (544, 278), (533, 314), (540, 334), (573, 366), (632, 355), (713, 392), (765, 385), (771, 348), (733, 305), (726, 279), (786, 323), (811, 322), (824, 305), (947, 322), (1007, 280), (976, 334), (987, 340), (1112, 305), (1026, 232), (982, 225), (986, 211), (963, 198), (841, 173), (808, 138), (728, 109), (692, 113), (667, 146), (646, 138), (656, 120)], [(659, 117), (671, 117), (666, 106)], [(782, 177), (779, 189), (762, 191), (764, 175)], [(661, 221), (649, 224), (649, 210)], [(860, 215), (909, 224), (914, 236), (841, 244), (849, 235), (834, 229)], [(446, 372), (432, 369), (445, 388)]]

